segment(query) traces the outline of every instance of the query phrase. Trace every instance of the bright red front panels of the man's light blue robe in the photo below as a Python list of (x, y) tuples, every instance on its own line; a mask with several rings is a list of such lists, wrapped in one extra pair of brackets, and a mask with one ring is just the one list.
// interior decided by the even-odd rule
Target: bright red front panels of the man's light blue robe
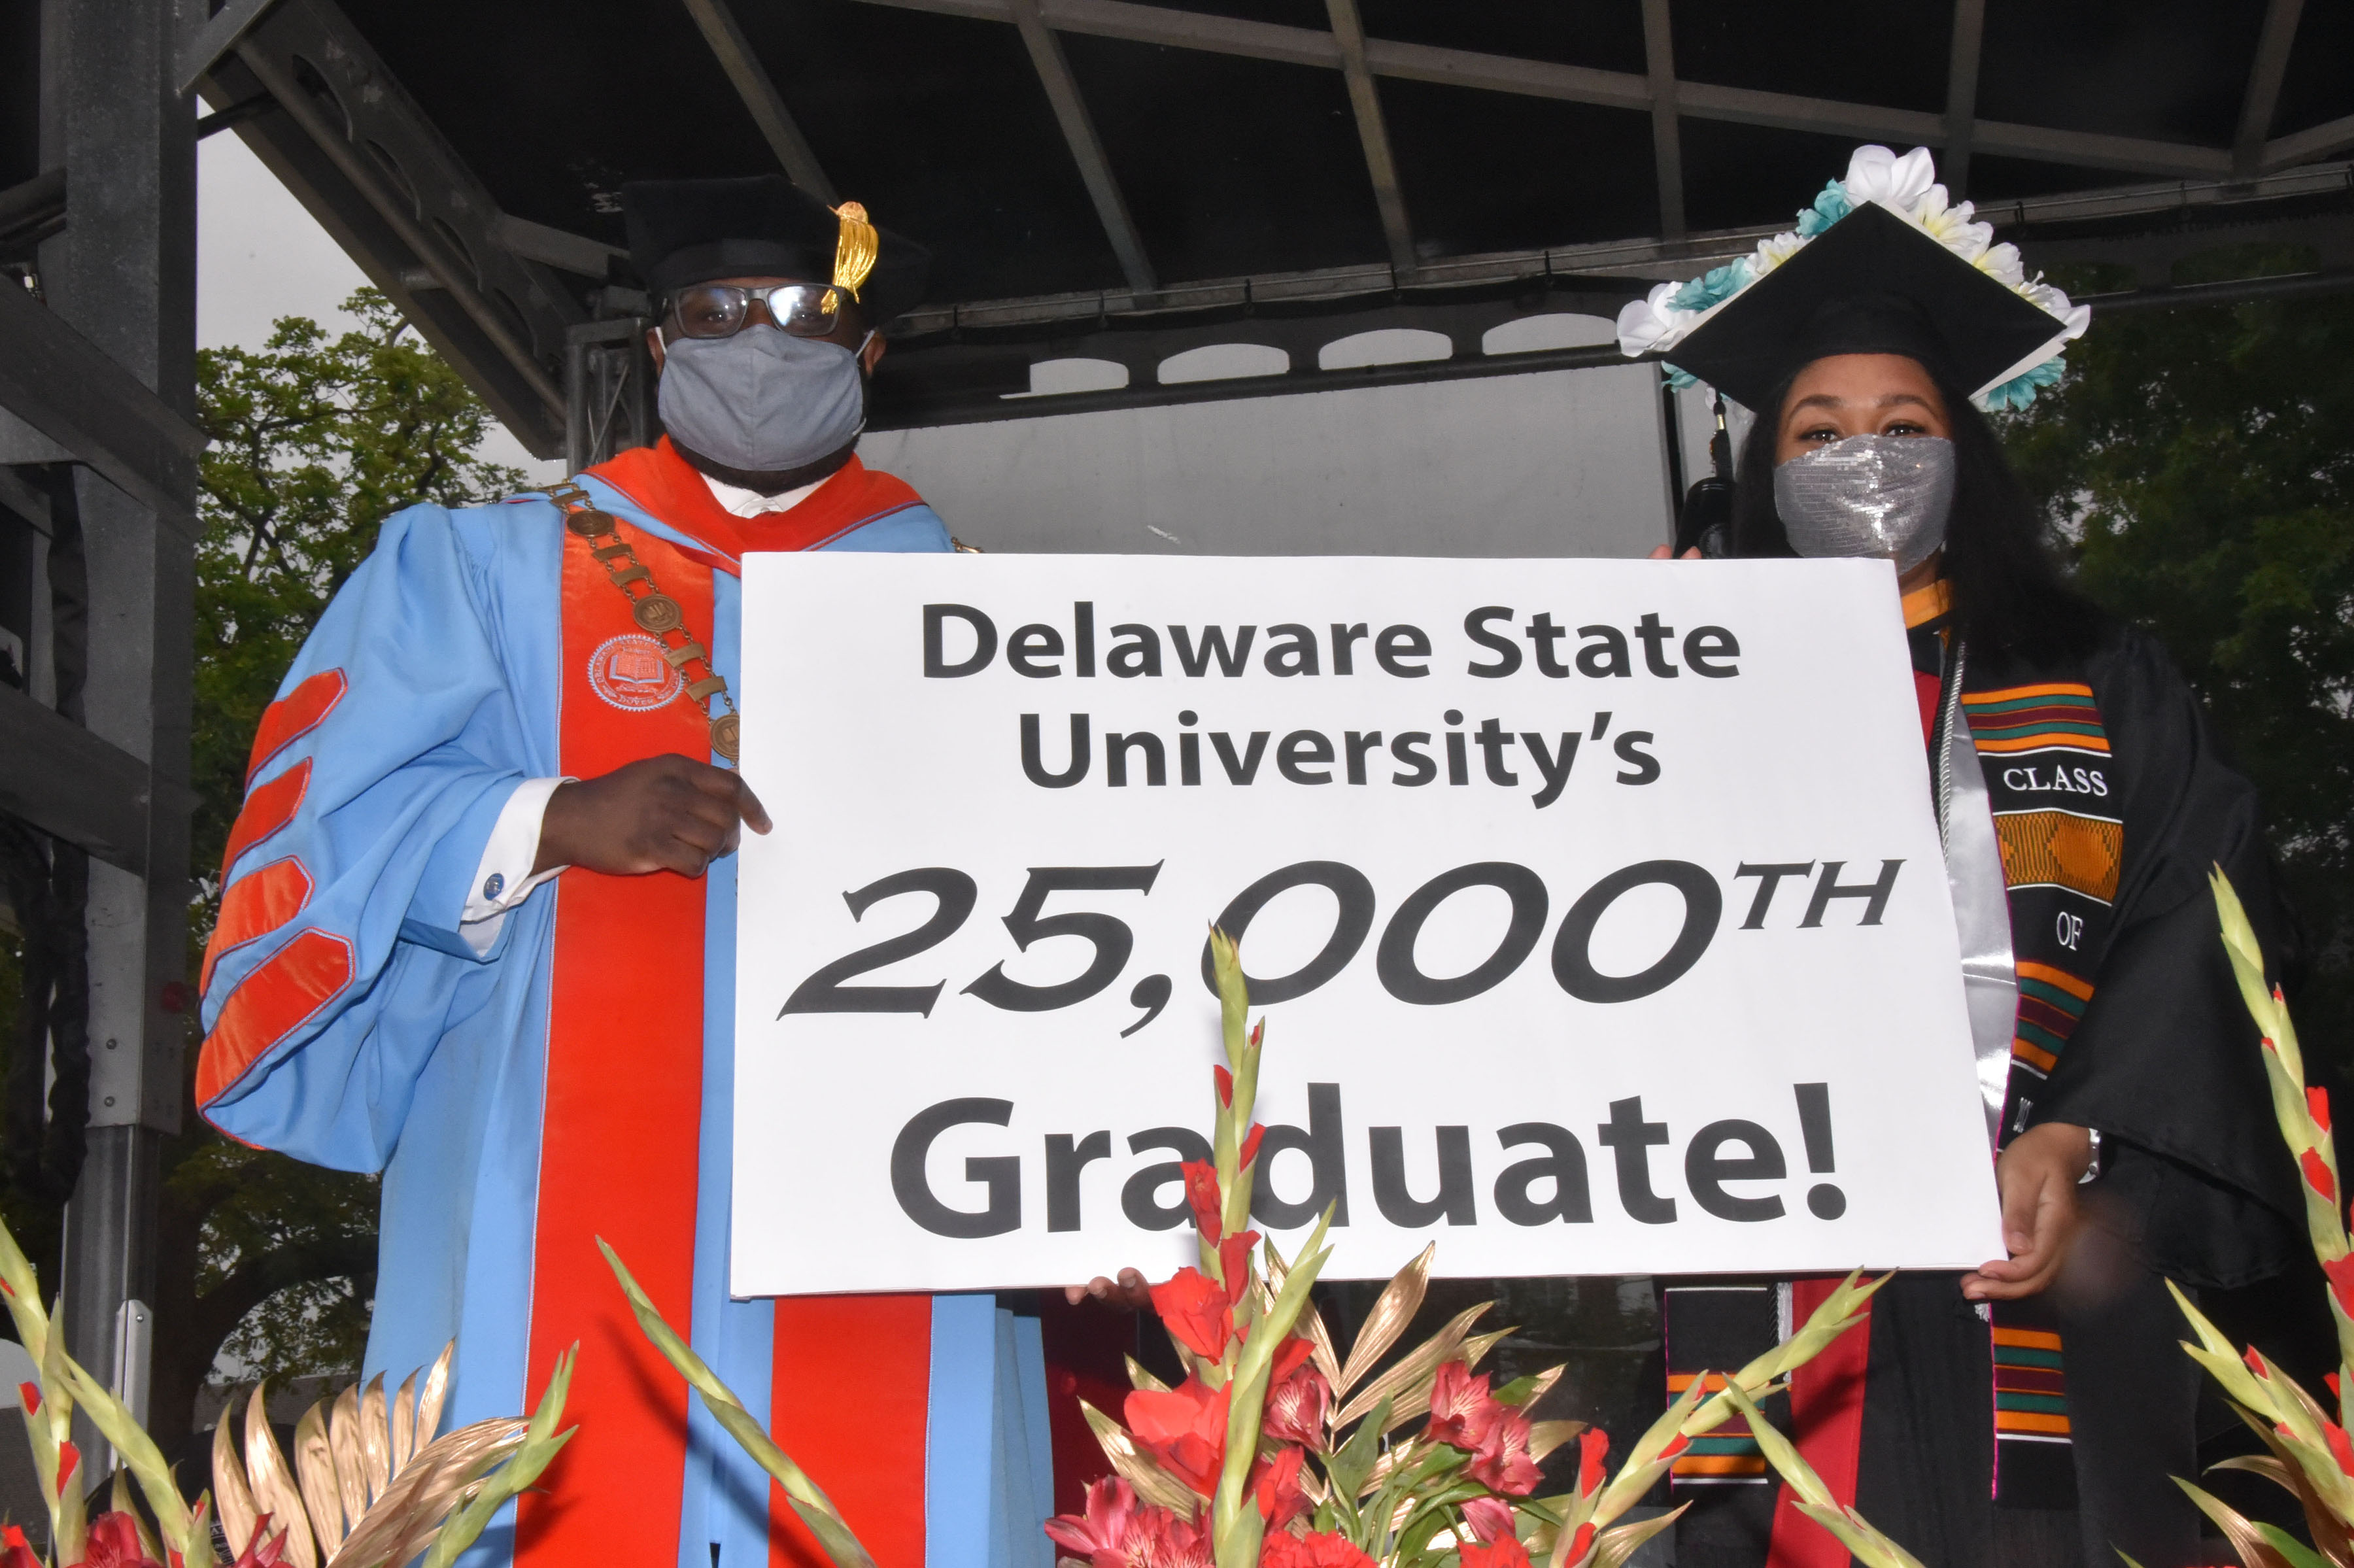
[[(685, 624), (713, 624), (713, 570), (621, 518), (638, 560)], [(709, 730), (661, 643), (631, 619), (565, 534), (560, 756), (570, 777), (640, 758), (709, 760)], [(579, 1434), (516, 1523), (518, 1568), (671, 1563), (687, 1455), (687, 1387), (638, 1333), (600, 1257), (605, 1238), (654, 1307), (694, 1333), (694, 1208), (704, 1069), (704, 881), (671, 871), (565, 871), (556, 895), (539, 1212), (525, 1396), (579, 1342), (565, 1420)], [(709, 1172), (725, 1182), (727, 1172)], [(923, 1568), (930, 1300), (779, 1300), (772, 1431), (824, 1486), (878, 1568)], [(836, 1373), (829, 1377), (829, 1368)], [(857, 1389), (840, 1387), (855, 1370)], [(746, 1391), (746, 1389), (739, 1389)], [(840, 1410), (859, 1406), (859, 1420)], [(770, 1561), (822, 1568), (817, 1542), (770, 1488)]]

